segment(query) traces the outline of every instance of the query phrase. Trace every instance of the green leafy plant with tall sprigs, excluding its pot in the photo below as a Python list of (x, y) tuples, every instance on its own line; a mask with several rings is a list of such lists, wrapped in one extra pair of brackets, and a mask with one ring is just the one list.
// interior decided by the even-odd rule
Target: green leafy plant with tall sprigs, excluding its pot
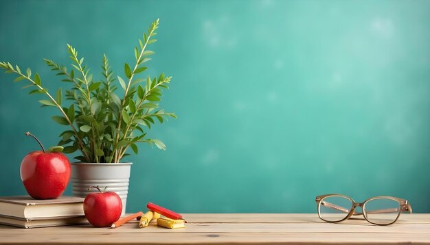
[[(18, 75), (14, 81), (30, 81), (23, 88), (33, 88), (30, 94), (45, 94), (47, 99), (39, 101), (42, 107), (57, 107), (60, 116), (52, 119), (60, 125), (69, 125), (70, 130), (60, 133), (60, 142), (63, 153), (80, 151), (76, 157), (81, 162), (120, 162), (128, 155), (126, 151), (132, 149), (138, 153), (137, 143), (145, 142), (159, 149), (166, 146), (157, 139), (146, 138), (146, 133), (157, 120), (159, 123), (168, 118), (177, 118), (174, 113), (159, 109), (162, 89), (168, 88), (172, 77), (165, 77), (163, 73), (158, 77), (147, 76), (138, 78), (147, 67), (144, 66), (150, 59), (153, 51), (147, 49), (148, 44), (157, 40), (154, 38), (159, 26), (159, 19), (152, 23), (143, 39), (139, 39), (139, 46), (135, 47), (135, 65), (124, 64), (125, 77), (114, 77), (109, 60), (103, 55), (102, 79), (93, 79), (89, 68), (84, 65), (84, 57), (79, 57), (76, 49), (67, 44), (70, 59), (73, 62), (71, 70), (65, 66), (45, 59), (45, 63), (56, 75), (62, 76), (66, 83), (71, 83), (71, 89), (58, 88), (56, 94), (48, 92), (42, 86), (38, 73), (32, 75), (27, 68), (22, 72), (18, 65), (12, 66), (9, 62), (0, 62), (5, 73)], [(122, 99), (115, 93), (117, 83), (124, 90)], [(63, 104), (63, 96), (71, 104)]]

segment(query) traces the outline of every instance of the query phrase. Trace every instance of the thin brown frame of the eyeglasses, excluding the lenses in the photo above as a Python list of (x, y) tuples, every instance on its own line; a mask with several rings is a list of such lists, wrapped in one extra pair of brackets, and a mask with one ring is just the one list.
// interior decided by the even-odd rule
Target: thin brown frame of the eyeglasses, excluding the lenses
[[(321, 205), (321, 201), (323, 201), (323, 199), (326, 198), (326, 197), (328, 197), (328, 196), (341, 196), (341, 197), (347, 198), (348, 200), (351, 201), (352, 207), (351, 207), (351, 209), (349, 211), (346, 210), (345, 208), (339, 207), (337, 205), (335, 205), (335, 207), (330, 207), (330, 208), (337, 209), (337, 210), (343, 211), (343, 212), (348, 211), (348, 215), (345, 218), (343, 218), (341, 220), (337, 220), (337, 221), (324, 220), (324, 218), (321, 218), (321, 214), (319, 212), (319, 205)], [(375, 222), (372, 222), (372, 221), (368, 220), (367, 217), (366, 217), (367, 216), (367, 211), (363, 208), (364, 205), (365, 205), (365, 203), (367, 203), (368, 201), (372, 201), (374, 199), (382, 199), (382, 198), (397, 201), (399, 203), (399, 205), (400, 205), (400, 208), (398, 209), (398, 214), (397, 214), (396, 220), (394, 220), (393, 222), (388, 223), (388, 224), (378, 224), (378, 223), (375, 223)], [(341, 195), (341, 194), (325, 194), (325, 195), (317, 196), (315, 198), (315, 202), (317, 203), (317, 213), (318, 213), (319, 218), (321, 220), (324, 220), (325, 222), (329, 222), (329, 223), (342, 222), (344, 220), (348, 220), (348, 218), (351, 218), (351, 216), (353, 216), (353, 215), (357, 216), (357, 215), (363, 214), (364, 219), (367, 222), (370, 222), (371, 224), (376, 224), (376, 225), (390, 225), (390, 224), (394, 224), (394, 222), (396, 222), (398, 220), (398, 218), (400, 217), (400, 214), (403, 213), (404, 211), (409, 211), (409, 214), (412, 214), (412, 207), (411, 207), (409, 201), (407, 201), (406, 199), (398, 198), (398, 197), (394, 197), (394, 196), (373, 196), (371, 198), (367, 198), (365, 201), (363, 201), (363, 203), (357, 203), (356, 201), (354, 201), (354, 199), (350, 198), (349, 196), (345, 196), (345, 195)], [(332, 203), (330, 203), (330, 204), (332, 204)], [(361, 209), (363, 210), (363, 213), (358, 213), (358, 212), (356, 213), (356, 211), (355, 211), (356, 207), (361, 207)]]

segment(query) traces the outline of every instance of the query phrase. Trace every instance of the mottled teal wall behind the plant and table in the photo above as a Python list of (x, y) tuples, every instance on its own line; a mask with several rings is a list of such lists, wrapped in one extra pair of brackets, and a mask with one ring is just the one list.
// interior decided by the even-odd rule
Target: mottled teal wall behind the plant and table
[[(430, 212), (430, 1), (0, 1), (0, 60), (58, 81), (73, 44), (116, 74), (159, 17), (148, 74), (172, 75), (176, 112), (139, 147), (127, 211), (315, 212), (315, 196), (407, 198)], [(0, 75), (0, 195), (64, 126)], [(73, 156), (70, 156), (73, 157)], [(71, 194), (70, 187), (66, 194)]]

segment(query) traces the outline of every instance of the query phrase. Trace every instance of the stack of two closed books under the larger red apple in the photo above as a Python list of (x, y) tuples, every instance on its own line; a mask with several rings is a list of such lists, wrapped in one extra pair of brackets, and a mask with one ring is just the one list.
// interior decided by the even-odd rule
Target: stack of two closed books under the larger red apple
[(0, 224), (22, 228), (88, 224), (83, 203), (84, 198), (74, 196), (50, 200), (36, 200), (30, 196), (0, 197)]

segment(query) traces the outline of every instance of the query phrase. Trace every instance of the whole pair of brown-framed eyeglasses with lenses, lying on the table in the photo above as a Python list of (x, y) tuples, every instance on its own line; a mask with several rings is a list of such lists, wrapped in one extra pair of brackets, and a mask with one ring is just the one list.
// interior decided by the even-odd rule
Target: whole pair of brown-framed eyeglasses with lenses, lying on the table
[[(412, 214), (411, 205), (407, 200), (393, 196), (375, 196), (363, 203), (356, 203), (348, 196), (328, 194), (317, 196), (315, 201), (319, 218), (330, 223), (363, 215), (365, 220), (372, 224), (388, 225), (396, 222), (404, 211)], [(363, 213), (356, 212), (356, 207), (361, 207)]]

